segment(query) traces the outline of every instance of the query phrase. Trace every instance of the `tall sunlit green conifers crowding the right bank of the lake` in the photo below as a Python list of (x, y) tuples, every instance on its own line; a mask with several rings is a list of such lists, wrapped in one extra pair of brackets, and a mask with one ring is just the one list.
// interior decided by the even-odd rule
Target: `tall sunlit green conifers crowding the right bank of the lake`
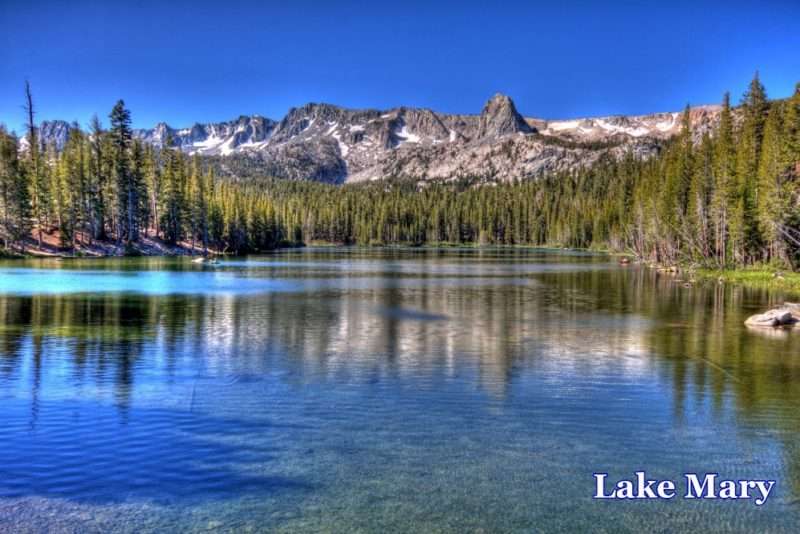
[[(636, 167), (622, 243), (656, 261), (715, 266), (800, 261), (800, 85), (770, 102), (758, 76), (717, 127), (682, 133)], [(619, 177), (625, 173), (619, 173)]]

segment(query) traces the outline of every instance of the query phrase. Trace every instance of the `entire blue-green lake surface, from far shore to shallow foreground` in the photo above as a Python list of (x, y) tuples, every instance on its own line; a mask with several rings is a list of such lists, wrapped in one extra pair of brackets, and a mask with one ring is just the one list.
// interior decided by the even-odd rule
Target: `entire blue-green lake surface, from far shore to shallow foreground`
[[(0, 263), (0, 531), (797, 531), (791, 295), (537, 250)], [(777, 480), (593, 500), (593, 472)], [(680, 484), (679, 484), (680, 487)]]

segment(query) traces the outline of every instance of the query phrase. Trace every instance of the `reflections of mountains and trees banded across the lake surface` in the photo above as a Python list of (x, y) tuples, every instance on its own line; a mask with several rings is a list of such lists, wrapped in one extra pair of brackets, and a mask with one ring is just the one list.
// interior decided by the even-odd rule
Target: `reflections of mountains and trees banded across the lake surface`
[[(0, 376), (13, 386), (29, 373), (35, 394), (47, 357), (64, 385), (111, 386), (124, 405), (140, 370), (158, 367), (163, 379), (259, 375), (274, 355), (288, 353), (287, 363), (307, 379), (367, 370), (418, 378), (475, 372), (481, 387), (503, 396), (515, 373), (530, 368), (561, 370), (561, 377), (656, 370), (670, 380), (678, 408), (687, 391), (709, 395), (716, 406), (734, 393), (743, 414), (800, 400), (794, 333), (742, 327), (743, 317), (782, 295), (713, 284), (686, 289), (650, 271), (604, 267), (548, 267), (513, 283), (439, 277), (403, 286), (396, 282), (407, 269), (388, 264), (355, 289), (335, 280), (288, 294), (152, 296), (99, 288), (73, 295), (64, 288), (56, 295), (0, 295)], [(302, 285), (307, 273), (298, 274)], [(194, 278), (181, 282), (197, 285)]]

